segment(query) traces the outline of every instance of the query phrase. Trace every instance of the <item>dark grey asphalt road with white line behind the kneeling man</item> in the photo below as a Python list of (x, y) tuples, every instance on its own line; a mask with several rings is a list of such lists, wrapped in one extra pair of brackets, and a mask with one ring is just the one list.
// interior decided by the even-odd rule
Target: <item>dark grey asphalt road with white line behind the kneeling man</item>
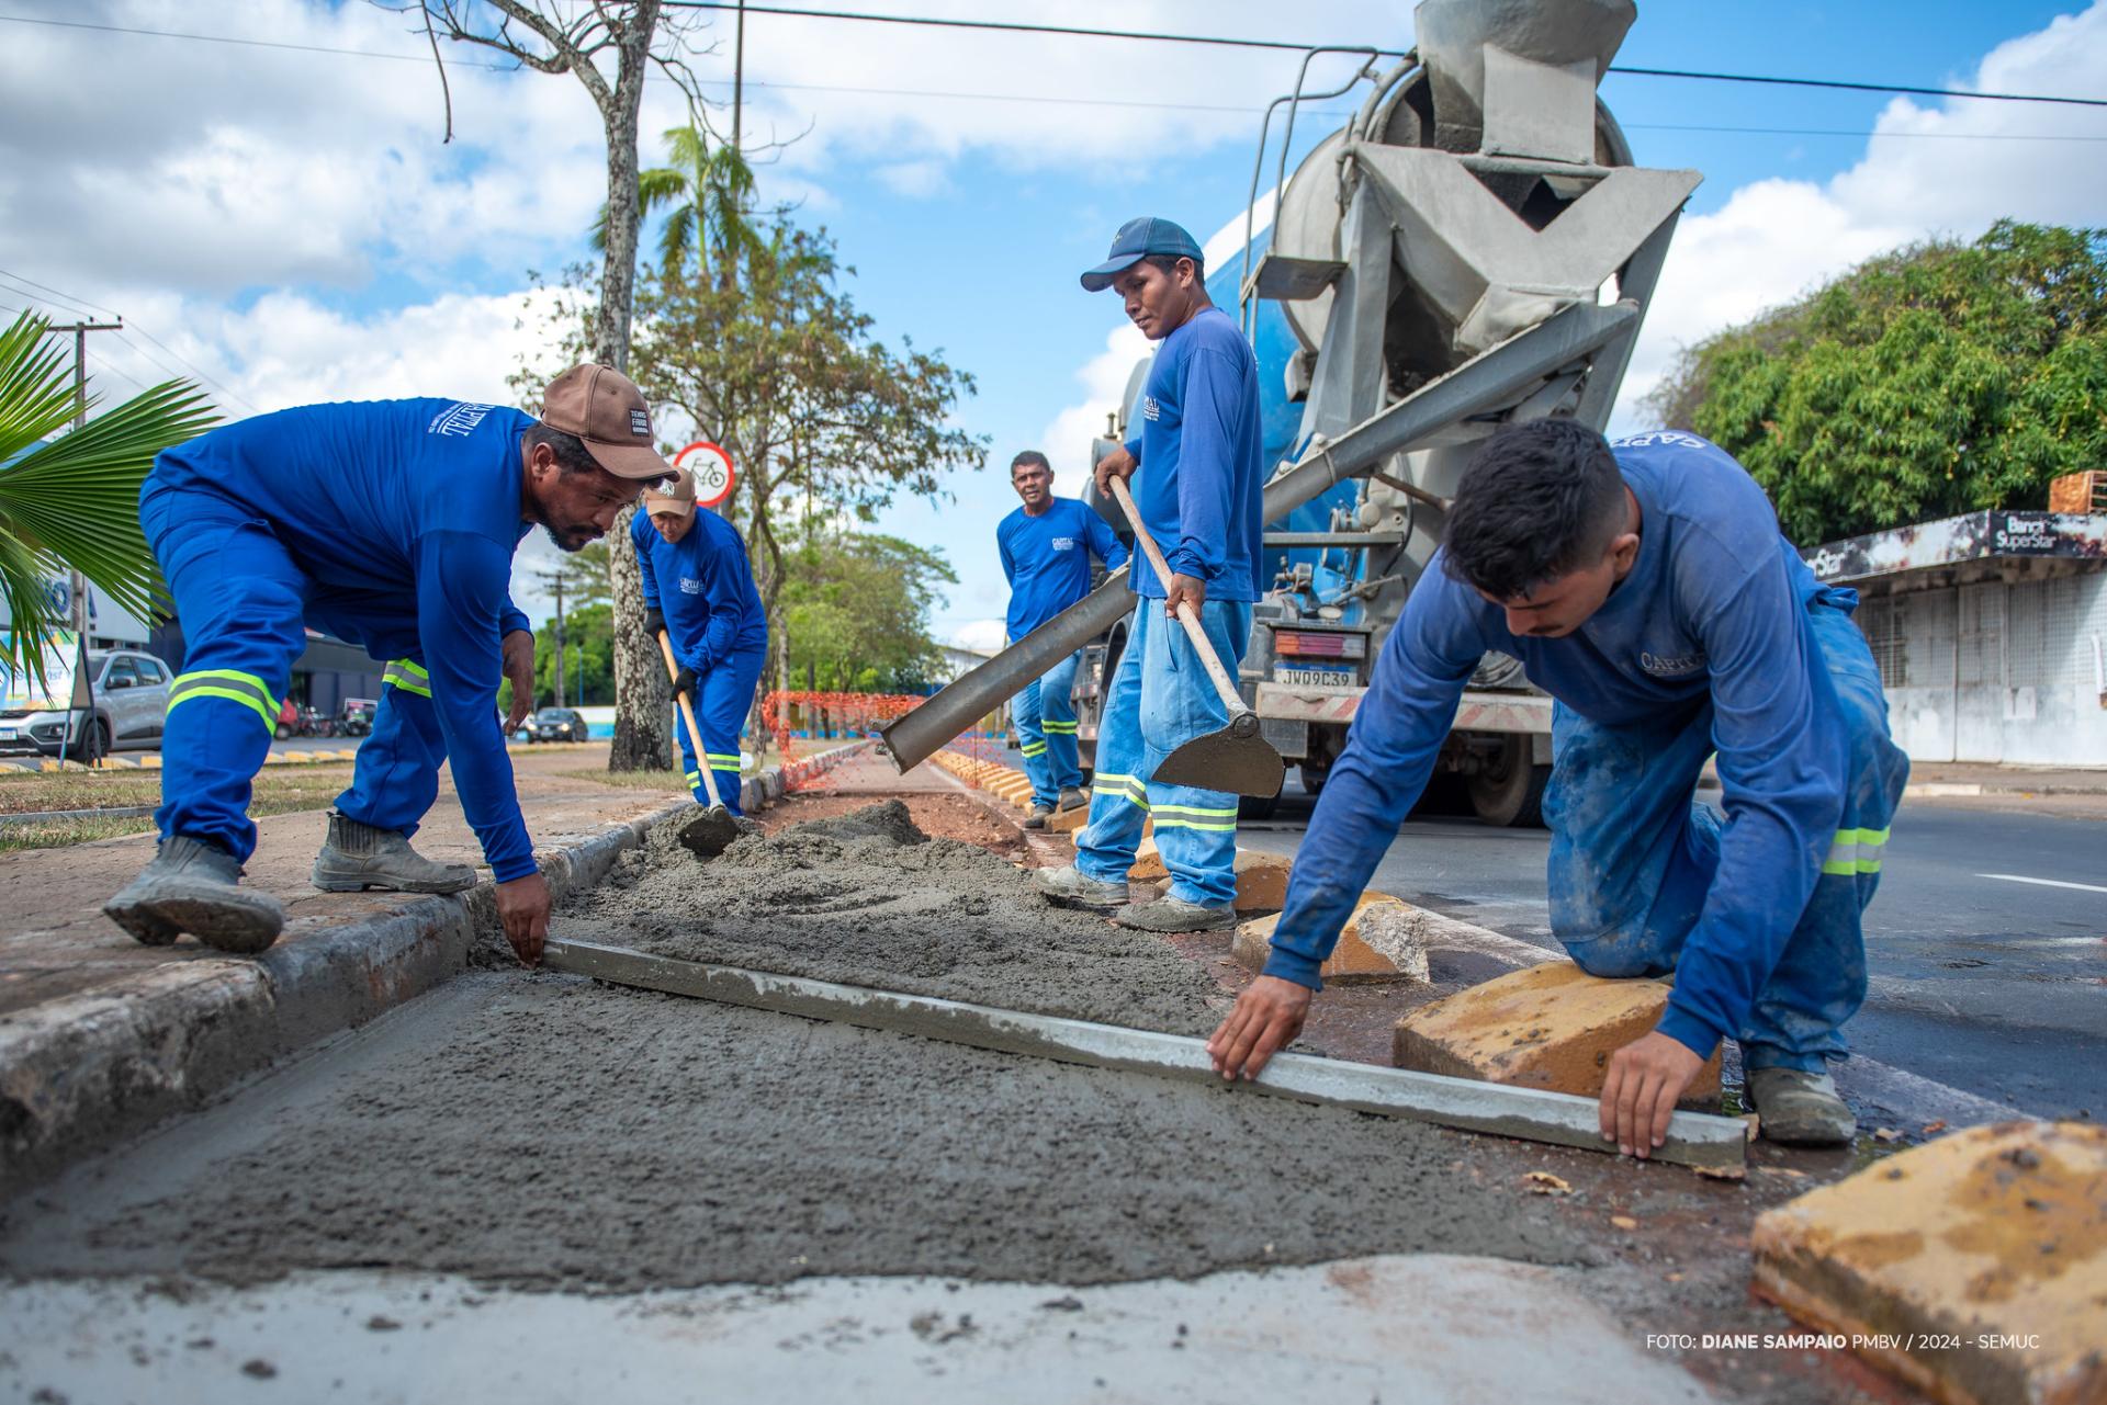
[[(1294, 853), (1298, 790), (1239, 843)], [(1559, 950), (1544, 830), (1407, 822), (1370, 887)], [(1867, 910), (1858, 1053), (2042, 1116), (2107, 1116), (2107, 822), (1905, 800)], [(2059, 887), (2061, 885), (2061, 887)]]

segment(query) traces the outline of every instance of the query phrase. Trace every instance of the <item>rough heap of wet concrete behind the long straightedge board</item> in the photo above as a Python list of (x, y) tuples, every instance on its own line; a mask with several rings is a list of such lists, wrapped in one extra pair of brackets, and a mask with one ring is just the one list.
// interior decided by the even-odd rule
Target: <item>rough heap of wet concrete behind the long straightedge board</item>
[(1228, 1009), (1161, 937), (1047, 904), (1018, 866), (927, 838), (900, 800), (708, 862), (655, 843), (565, 904), (554, 933), (1167, 1034), (1207, 1034)]

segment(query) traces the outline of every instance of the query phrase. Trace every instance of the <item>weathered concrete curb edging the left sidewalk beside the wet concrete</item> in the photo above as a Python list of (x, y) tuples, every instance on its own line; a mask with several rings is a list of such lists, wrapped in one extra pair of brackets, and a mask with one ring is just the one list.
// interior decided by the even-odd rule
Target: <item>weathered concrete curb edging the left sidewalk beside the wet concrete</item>
[[(645, 843), (668, 805), (541, 855), (560, 902)], [(0, 1196), (206, 1102), (274, 1060), (451, 979), (495, 923), (491, 880), (274, 946), (200, 956), (0, 1020)]]

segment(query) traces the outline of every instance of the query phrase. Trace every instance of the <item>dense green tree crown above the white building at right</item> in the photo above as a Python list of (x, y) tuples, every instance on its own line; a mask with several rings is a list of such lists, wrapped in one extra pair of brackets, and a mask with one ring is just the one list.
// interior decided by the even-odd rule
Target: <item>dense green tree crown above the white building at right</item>
[(2107, 461), (2107, 232), (1882, 255), (1688, 348), (1648, 409), (1740, 459), (1804, 546), (2044, 506)]

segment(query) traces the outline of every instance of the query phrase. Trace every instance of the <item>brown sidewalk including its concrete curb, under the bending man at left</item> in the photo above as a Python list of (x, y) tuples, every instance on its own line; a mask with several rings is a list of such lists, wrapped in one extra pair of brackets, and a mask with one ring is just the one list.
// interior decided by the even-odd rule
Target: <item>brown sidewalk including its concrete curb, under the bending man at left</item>
[[(516, 754), (535, 855), (560, 897), (691, 800), (565, 775), (605, 769), (607, 748)], [(442, 777), (449, 781), (449, 777)], [(152, 834), (0, 855), (0, 1188), (192, 1108), (270, 1060), (362, 1024), (455, 975), (495, 923), (491, 885), (459, 897), (320, 893), (308, 870), (322, 811), (259, 822), (249, 883), (287, 904), (261, 958), (185, 937), (147, 948), (101, 914), (154, 851)], [(480, 864), (451, 784), (417, 847)]]

